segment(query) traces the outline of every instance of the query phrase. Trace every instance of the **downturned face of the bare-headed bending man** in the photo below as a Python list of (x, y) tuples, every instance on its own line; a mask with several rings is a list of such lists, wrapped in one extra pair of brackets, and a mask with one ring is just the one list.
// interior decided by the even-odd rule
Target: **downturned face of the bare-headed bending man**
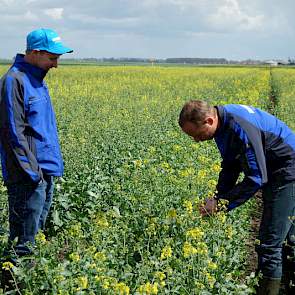
[(201, 125), (196, 125), (192, 122), (185, 122), (182, 126), (182, 131), (192, 137), (196, 142), (210, 140), (214, 137), (216, 128), (211, 121), (204, 122)]

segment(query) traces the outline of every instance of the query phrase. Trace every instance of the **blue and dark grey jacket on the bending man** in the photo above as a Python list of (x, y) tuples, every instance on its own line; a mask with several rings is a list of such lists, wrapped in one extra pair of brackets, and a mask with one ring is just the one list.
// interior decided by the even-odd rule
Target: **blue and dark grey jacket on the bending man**
[[(295, 180), (295, 134), (276, 117), (244, 105), (217, 106), (220, 127), (214, 139), (223, 159), (217, 198), (231, 210), (265, 184)], [(244, 179), (237, 182), (239, 174)]]

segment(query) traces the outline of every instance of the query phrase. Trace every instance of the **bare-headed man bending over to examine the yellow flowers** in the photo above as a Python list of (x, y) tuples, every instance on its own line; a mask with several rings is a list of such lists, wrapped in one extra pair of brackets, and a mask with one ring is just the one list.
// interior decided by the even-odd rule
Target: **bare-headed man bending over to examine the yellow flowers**
[[(276, 117), (245, 105), (210, 106), (189, 101), (181, 110), (179, 125), (195, 141), (214, 139), (222, 157), (217, 194), (207, 199), (203, 216), (217, 211), (219, 199), (232, 210), (259, 189), (263, 214), (257, 246), (258, 270), (262, 272), (257, 294), (279, 294), (282, 248), (288, 252), (289, 283), (294, 282), (295, 227), (295, 134)], [(244, 179), (237, 183), (240, 173)], [(288, 284), (290, 294), (294, 292)]]

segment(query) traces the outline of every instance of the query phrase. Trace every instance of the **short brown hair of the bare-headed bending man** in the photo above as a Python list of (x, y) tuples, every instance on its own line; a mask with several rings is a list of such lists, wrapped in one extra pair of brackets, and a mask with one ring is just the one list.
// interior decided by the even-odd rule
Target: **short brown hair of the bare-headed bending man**
[(206, 101), (190, 100), (182, 108), (179, 114), (179, 126), (183, 127), (184, 123), (191, 122), (200, 125), (208, 115), (214, 114), (214, 107)]

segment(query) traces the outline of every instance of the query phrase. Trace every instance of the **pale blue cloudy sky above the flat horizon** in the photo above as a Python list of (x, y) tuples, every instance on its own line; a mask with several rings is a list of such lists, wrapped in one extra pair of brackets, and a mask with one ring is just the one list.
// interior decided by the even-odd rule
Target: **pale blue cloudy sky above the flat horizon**
[(55, 29), (66, 57), (295, 57), (293, 0), (0, 0), (0, 58)]

